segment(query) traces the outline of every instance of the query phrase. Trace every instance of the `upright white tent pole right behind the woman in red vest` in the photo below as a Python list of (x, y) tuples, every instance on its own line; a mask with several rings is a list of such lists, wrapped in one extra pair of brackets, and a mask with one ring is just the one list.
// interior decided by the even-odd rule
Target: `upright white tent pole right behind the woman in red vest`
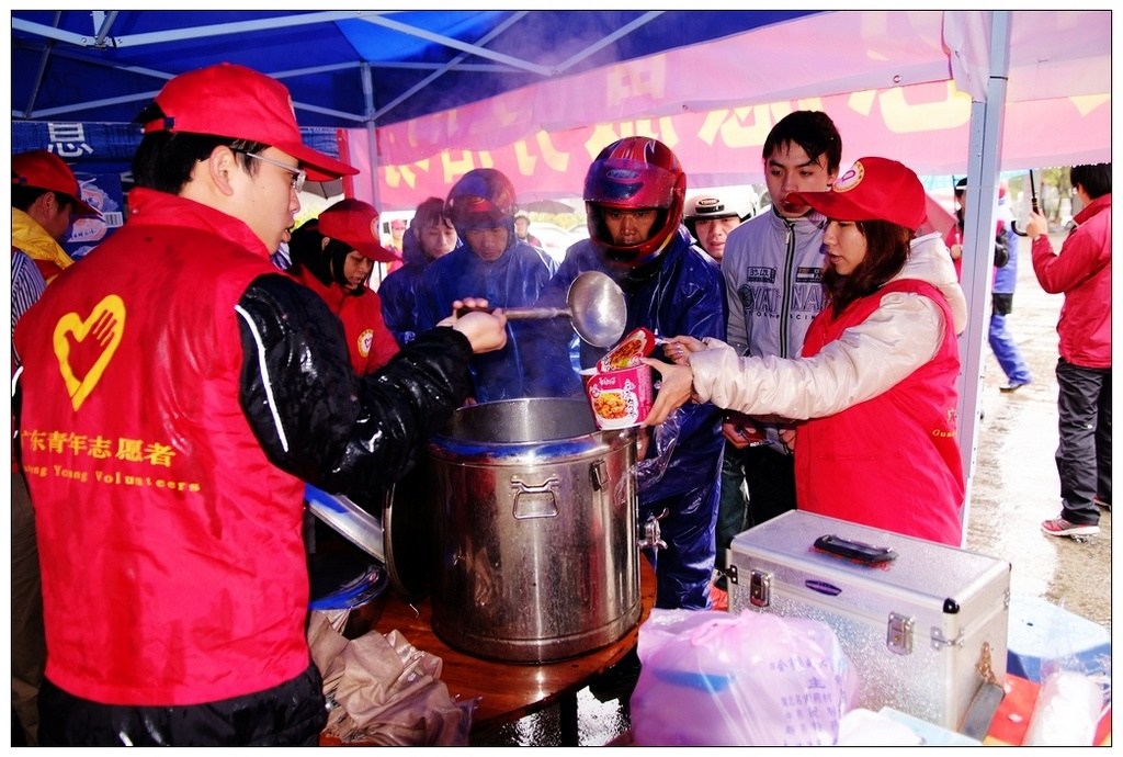
[(994, 275), (995, 209), (998, 172), (1002, 166), (1002, 134), (1010, 72), (1010, 11), (984, 13), (990, 17), (989, 75), (984, 101), (971, 101), (968, 143), (967, 212), (964, 216), (962, 288), (969, 319), (959, 337), (962, 370), (959, 374), (959, 449), (967, 490), (964, 498), (964, 536), (970, 522), (971, 484), (982, 411), (984, 344), (990, 313), (990, 283)]

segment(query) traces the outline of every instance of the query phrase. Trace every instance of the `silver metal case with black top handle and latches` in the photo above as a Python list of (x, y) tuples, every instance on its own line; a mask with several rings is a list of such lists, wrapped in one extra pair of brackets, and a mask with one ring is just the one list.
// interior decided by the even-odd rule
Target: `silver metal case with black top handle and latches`
[[(815, 548), (828, 535), (896, 556), (862, 563)], [(984, 682), (1005, 681), (1010, 563), (793, 511), (738, 535), (730, 566), (730, 612), (834, 629), (861, 680), (855, 706), (892, 706), (960, 730)]]

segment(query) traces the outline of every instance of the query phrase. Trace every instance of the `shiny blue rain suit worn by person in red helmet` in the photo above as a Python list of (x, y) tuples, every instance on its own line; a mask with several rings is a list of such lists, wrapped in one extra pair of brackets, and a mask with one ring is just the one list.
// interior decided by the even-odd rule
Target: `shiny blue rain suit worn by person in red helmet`
[[(646, 327), (658, 336), (690, 335), (699, 339), (725, 337), (725, 292), (720, 268), (691, 243), (686, 228), (655, 261), (622, 271), (602, 262), (588, 239), (566, 252), (565, 261), (542, 292), (538, 304), (565, 307), (569, 284), (584, 271), (602, 271), (620, 284), (628, 304), (624, 334)], [(573, 329), (564, 319), (550, 321), (538, 337), (553, 345), (541, 352), (560, 365)], [(581, 365), (592, 367), (606, 349), (581, 343)], [(562, 353), (560, 357), (558, 354)], [(652, 357), (661, 358), (661, 347)], [(558, 368), (558, 373), (564, 373)], [(579, 376), (568, 372), (568, 391), (582, 392)], [(658, 381), (658, 376), (655, 376)], [(714, 565), (714, 527), (718, 517), (720, 472), (724, 438), (722, 412), (712, 404), (687, 403), (660, 427), (650, 429), (647, 459), (640, 463), (640, 520), (649, 513), (668, 514), (659, 521), (665, 549), (657, 550), (656, 606), (705, 609)], [(677, 437), (673, 437), (677, 430)], [(663, 431), (664, 434), (660, 438)], [(666, 438), (672, 436), (673, 438)], [(665, 456), (666, 459), (652, 459)], [(645, 475), (648, 466), (661, 472)]]

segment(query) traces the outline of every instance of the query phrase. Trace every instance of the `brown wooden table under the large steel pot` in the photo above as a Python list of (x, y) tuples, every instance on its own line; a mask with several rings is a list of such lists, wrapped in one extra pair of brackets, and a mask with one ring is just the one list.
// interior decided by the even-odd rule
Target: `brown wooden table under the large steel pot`
[(640, 557), (639, 565), (639, 622), (614, 644), (557, 663), (499, 663), (457, 651), (433, 632), (428, 599), (414, 609), (391, 595), (375, 628), (382, 633), (396, 629), (418, 649), (440, 657), (444, 660), (440, 680), (454, 699), (480, 697), (472, 718), (473, 732), (486, 732), (557, 703), (562, 742), (577, 746), (577, 692), (636, 646), (639, 626), (655, 605), (655, 571), (646, 557)]

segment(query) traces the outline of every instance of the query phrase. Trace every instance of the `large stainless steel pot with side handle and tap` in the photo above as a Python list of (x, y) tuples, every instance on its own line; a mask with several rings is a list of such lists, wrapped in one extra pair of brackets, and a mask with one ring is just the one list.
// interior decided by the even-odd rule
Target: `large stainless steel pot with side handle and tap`
[(462, 408), (429, 443), (432, 624), (514, 663), (590, 651), (639, 620), (634, 429), (599, 431), (584, 400)]

